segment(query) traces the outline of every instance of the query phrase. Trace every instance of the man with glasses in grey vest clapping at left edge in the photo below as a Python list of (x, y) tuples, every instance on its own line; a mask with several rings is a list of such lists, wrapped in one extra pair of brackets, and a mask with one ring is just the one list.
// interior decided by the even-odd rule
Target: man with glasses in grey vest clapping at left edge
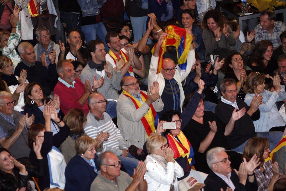
[(0, 92), (0, 145), (9, 150), (15, 159), (29, 162), (27, 127), (33, 124), (35, 117), (15, 111), (15, 102), (9, 92)]

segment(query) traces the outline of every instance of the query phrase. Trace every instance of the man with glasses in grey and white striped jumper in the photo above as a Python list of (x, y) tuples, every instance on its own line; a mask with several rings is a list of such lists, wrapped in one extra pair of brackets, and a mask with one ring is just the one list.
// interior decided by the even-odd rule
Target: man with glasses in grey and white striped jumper
[[(126, 172), (132, 176), (138, 160), (128, 152), (128, 145), (110, 116), (105, 112), (107, 100), (100, 93), (92, 93), (88, 97), (88, 107), (90, 112), (86, 117), (84, 131), (88, 136), (103, 143), (103, 151), (111, 150), (120, 160)], [(100, 152), (97, 153), (100, 155)]]

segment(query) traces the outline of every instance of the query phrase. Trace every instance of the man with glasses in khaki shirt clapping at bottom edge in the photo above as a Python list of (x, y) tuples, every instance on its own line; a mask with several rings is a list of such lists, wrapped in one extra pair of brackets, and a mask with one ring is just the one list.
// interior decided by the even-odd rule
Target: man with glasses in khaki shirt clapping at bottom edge
[(122, 161), (111, 151), (105, 151), (98, 157), (100, 171), (92, 182), (90, 190), (140, 190), (147, 191), (145, 181), (146, 166), (144, 162), (138, 162), (134, 176), (121, 171)]

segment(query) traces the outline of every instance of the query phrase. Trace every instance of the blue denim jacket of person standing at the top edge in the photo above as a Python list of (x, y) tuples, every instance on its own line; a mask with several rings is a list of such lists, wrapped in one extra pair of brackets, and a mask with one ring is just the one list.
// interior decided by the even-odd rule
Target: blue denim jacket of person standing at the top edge
[(106, 0), (78, 0), (78, 4), (82, 9), (82, 16), (93, 16), (100, 13), (99, 8), (106, 2)]

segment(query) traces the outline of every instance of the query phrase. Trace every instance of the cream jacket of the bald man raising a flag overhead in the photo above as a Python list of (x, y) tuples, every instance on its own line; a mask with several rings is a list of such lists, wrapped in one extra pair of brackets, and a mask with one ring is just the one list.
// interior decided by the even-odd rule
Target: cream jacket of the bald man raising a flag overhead
[[(153, 84), (153, 82), (157, 81), (159, 83), (159, 88), (160, 88), (159, 94), (161, 96), (163, 93), (164, 87), (165, 87), (165, 80), (164, 80), (163, 74), (161, 73), (156, 74), (157, 68), (158, 68), (158, 60), (159, 60), (159, 57), (155, 57), (152, 55), (151, 62), (150, 62), (149, 75), (148, 75), (148, 88), (150, 89), (150, 86)], [(184, 90), (183, 90), (183, 86), (181, 82), (184, 79), (186, 79), (186, 77), (189, 75), (192, 69), (192, 66), (194, 65), (195, 62), (196, 62), (195, 51), (190, 50), (188, 53), (188, 57), (187, 57), (186, 72), (181, 75), (180, 70), (178, 70), (179, 66), (178, 65), (176, 66), (177, 70), (175, 72), (174, 79), (176, 80), (180, 88), (181, 111), (182, 111), (183, 101), (185, 99), (185, 94), (184, 94)]]

